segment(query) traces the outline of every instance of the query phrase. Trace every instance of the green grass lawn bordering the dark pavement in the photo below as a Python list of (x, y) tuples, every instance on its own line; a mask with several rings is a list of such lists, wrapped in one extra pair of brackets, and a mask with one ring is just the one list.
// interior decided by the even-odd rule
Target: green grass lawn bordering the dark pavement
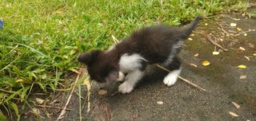
[[(181, 25), (197, 15), (242, 10), (239, 0), (106, 1), (1, 0), (0, 120), (30, 92), (67, 88), (66, 74), (79, 68), (78, 53), (106, 49), (133, 29), (163, 23)], [(2, 110), (8, 114), (3, 115)]]

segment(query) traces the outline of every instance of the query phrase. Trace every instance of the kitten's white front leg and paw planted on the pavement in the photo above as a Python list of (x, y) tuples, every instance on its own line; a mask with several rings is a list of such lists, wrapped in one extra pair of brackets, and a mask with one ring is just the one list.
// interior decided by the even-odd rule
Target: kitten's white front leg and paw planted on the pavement
[(143, 73), (140, 70), (129, 72), (126, 76), (126, 81), (118, 87), (118, 91), (123, 94), (130, 93), (134, 89), (135, 84), (138, 83), (138, 80), (142, 78)]

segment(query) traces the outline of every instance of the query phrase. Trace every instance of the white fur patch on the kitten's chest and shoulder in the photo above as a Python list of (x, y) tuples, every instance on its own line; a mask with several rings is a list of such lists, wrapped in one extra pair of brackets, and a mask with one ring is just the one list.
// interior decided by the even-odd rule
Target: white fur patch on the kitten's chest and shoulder
[(131, 55), (124, 54), (122, 55), (119, 61), (120, 71), (130, 72), (130, 71), (137, 70), (142, 66), (141, 61), (146, 61), (146, 59), (144, 59), (137, 53), (134, 53)]

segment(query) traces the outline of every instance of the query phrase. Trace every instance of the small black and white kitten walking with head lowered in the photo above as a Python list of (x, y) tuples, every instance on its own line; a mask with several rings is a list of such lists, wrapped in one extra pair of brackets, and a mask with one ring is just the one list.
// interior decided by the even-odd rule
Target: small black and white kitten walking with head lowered
[(198, 25), (197, 17), (182, 27), (153, 25), (133, 32), (112, 48), (82, 53), (78, 61), (86, 64), (91, 80), (114, 81), (118, 73), (127, 73), (118, 91), (130, 93), (144, 74), (147, 64), (161, 64), (171, 72), (163, 83), (173, 85), (181, 72), (177, 54), (183, 42)]

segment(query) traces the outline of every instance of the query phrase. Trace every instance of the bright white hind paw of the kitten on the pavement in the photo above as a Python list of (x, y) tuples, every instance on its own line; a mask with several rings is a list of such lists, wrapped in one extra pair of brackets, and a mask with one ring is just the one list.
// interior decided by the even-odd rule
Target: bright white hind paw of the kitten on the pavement
[(175, 82), (178, 79), (178, 76), (181, 72), (181, 68), (174, 70), (172, 72), (169, 72), (169, 74), (165, 77), (165, 79), (163, 80), (163, 83), (166, 84), (167, 86), (171, 86), (174, 85)]

